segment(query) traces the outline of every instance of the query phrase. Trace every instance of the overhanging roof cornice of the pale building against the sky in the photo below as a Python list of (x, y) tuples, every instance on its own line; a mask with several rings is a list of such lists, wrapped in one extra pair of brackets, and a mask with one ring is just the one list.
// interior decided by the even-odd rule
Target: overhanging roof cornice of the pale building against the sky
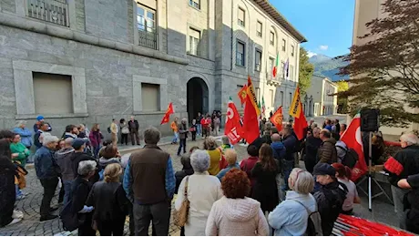
[(253, 0), (257, 5), (261, 6), (261, 8), (271, 15), (271, 17), (278, 22), (281, 26), (283, 26), (288, 32), (290, 32), (291, 36), (294, 36), (300, 43), (307, 42), (307, 39), (302, 36), (302, 34), (291, 25), (290, 22), (285, 19), (283, 15), (275, 8), (275, 6), (271, 5), (269, 0)]

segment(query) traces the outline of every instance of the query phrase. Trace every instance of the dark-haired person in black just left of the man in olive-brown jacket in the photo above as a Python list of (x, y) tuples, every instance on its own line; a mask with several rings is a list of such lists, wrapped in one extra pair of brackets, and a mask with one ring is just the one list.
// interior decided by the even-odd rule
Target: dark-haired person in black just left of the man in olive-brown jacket
[(320, 139), (320, 128), (312, 129), (312, 136), (305, 140), (305, 156), (304, 164), (305, 169), (312, 173), (314, 166), (317, 163), (317, 153), (322, 145), (322, 139)]

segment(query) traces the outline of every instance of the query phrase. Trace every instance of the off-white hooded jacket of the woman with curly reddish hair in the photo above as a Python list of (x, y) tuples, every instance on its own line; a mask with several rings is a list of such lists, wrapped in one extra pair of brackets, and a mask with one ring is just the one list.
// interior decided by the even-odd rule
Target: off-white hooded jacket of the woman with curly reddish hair
[(269, 226), (259, 201), (222, 197), (212, 206), (207, 236), (269, 236)]

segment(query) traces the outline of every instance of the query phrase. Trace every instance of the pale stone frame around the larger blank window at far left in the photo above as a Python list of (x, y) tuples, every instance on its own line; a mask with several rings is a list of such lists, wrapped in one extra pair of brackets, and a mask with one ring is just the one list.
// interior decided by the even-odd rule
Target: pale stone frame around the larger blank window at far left
[(16, 119), (36, 118), (33, 72), (67, 75), (71, 77), (73, 113), (46, 114), (47, 118), (87, 117), (85, 68), (26, 60), (13, 61), (15, 80)]

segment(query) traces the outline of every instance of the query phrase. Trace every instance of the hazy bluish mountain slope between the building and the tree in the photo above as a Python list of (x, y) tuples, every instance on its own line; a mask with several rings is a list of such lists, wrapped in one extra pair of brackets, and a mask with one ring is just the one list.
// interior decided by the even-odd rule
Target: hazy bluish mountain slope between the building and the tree
[(339, 72), (339, 67), (346, 66), (347, 63), (340, 59), (333, 59), (325, 55), (314, 55), (310, 57), (309, 62), (314, 65), (314, 74), (324, 77), (329, 77), (332, 81), (346, 80), (349, 77), (340, 77), (336, 73)]

